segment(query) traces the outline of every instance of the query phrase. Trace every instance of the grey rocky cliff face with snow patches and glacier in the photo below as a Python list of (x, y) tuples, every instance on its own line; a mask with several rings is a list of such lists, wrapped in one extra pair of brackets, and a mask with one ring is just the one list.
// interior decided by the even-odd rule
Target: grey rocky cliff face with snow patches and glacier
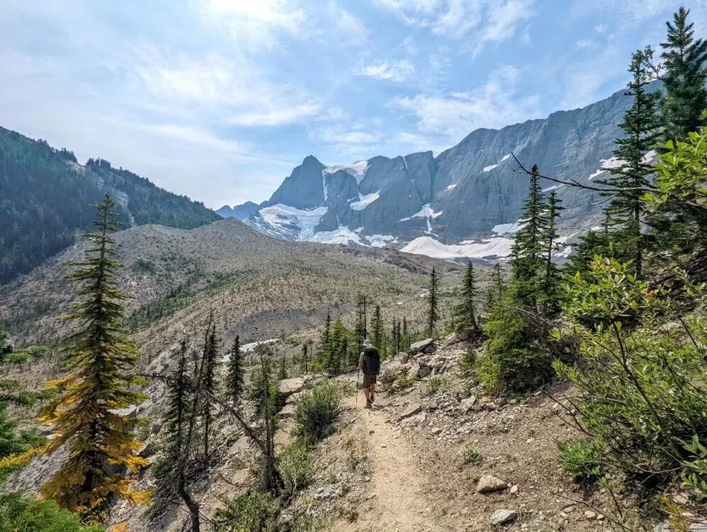
[[(503, 233), (513, 231), (527, 194), (527, 177), (514, 172), (511, 154), (544, 174), (589, 182), (615, 164), (617, 124), (630, 103), (622, 91), (542, 120), (479, 129), (437, 157), (412, 153), (328, 167), (309, 155), (246, 223), (287, 240), (503, 256), (509, 247), (500, 240), (508, 240)], [(565, 235), (596, 225), (596, 194), (548, 181), (551, 188), (566, 208)]]

